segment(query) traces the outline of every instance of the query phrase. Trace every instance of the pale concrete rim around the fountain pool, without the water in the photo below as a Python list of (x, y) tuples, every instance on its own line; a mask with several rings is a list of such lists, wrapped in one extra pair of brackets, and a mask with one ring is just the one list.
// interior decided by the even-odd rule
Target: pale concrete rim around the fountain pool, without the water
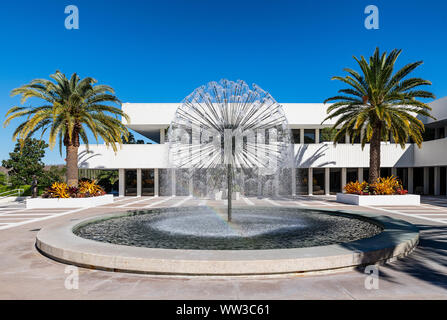
[(88, 240), (73, 233), (85, 224), (134, 213), (128, 211), (46, 227), (37, 234), (36, 247), (56, 261), (91, 269), (163, 275), (238, 276), (340, 271), (385, 263), (408, 255), (419, 241), (419, 230), (414, 225), (388, 216), (336, 209), (282, 208), (348, 215), (378, 224), (383, 231), (371, 238), (342, 244), (269, 250), (131, 247)]

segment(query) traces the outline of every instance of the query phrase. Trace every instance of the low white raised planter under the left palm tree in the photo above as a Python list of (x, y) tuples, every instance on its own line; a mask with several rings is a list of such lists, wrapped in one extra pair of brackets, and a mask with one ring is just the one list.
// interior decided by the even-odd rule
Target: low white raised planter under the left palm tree
[(63, 198), (46, 199), (34, 198), (26, 200), (27, 209), (47, 209), (47, 208), (88, 208), (113, 203), (113, 195), (106, 194), (91, 198)]

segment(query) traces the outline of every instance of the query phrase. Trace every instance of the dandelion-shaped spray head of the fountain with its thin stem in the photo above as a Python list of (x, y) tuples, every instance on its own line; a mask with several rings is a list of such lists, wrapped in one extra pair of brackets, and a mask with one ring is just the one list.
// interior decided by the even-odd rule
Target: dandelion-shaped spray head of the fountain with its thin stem
[(237, 173), (278, 174), (293, 159), (282, 106), (259, 86), (250, 88), (241, 80), (213, 81), (194, 90), (177, 109), (168, 140), (171, 167), (187, 169), (191, 176), (195, 170), (224, 172), (228, 221)]

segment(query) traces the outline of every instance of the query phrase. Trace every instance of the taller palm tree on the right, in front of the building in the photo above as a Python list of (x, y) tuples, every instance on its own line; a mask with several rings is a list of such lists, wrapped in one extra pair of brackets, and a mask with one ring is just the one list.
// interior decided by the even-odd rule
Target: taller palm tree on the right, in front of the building
[(351, 141), (361, 137), (362, 149), (367, 142), (370, 143), (370, 183), (380, 177), (381, 141), (387, 141), (391, 134), (402, 148), (405, 148), (409, 138), (421, 147), (425, 128), (417, 116), (433, 118), (429, 112), (431, 108), (417, 99), (434, 99), (435, 96), (431, 92), (416, 89), (431, 85), (431, 82), (421, 78), (406, 79), (423, 61), (409, 63), (393, 74), (394, 64), (401, 51), (394, 49), (389, 55), (386, 52), (381, 55), (377, 48), (369, 62), (363, 56), (360, 59), (354, 57), (362, 74), (346, 68), (344, 71), (349, 75), (333, 77), (332, 80), (339, 80), (349, 87), (339, 90), (343, 95), (324, 102), (335, 102), (329, 106), (329, 115), (323, 120), (337, 118), (333, 128), (339, 129), (334, 143), (341, 141), (345, 135), (350, 136)]

